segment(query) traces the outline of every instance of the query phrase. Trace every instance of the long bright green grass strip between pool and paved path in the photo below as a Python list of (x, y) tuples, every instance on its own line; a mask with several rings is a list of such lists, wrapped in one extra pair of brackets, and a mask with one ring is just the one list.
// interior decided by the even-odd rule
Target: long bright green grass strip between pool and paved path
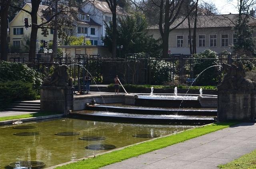
[(180, 132), (178, 134), (174, 134), (174, 135), (167, 136), (164, 138), (159, 138), (159, 139), (148, 141), (145, 143), (140, 143), (138, 145), (126, 147), (122, 150), (113, 151), (110, 153), (96, 156), (94, 158), (81, 160), (76, 163), (70, 163), (68, 165), (64, 165), (64, 166), (57, 167), (57, 168), (58, 169), (71, 169), (71, 168), (73, 168), (73, 169), (98, 169), (105, 165), (117, 163), (117, 162), (120, 162), (122, 160), (131, 158), (131, 157), (136, 157), (137, 155), (148, 153), (148, 152), (154, 151), (156, 149), (161, 149), (161, 148), (167, 147), (169, 145), (173, 145), (176, 143), (180, 143), (182, 141), (196, 138), (198, 136), (202, 136), (204, 134), (215, 132), (217, 130), (221, 130), (223, 128), (232, 126), (234, 124), (237, 124), (237, 122), (225, 122), (225, 123), (210, 124), (208, 126), (199, 127), (199, 128), (195, 128), (192, 130), (186, 130), (186, 131)]

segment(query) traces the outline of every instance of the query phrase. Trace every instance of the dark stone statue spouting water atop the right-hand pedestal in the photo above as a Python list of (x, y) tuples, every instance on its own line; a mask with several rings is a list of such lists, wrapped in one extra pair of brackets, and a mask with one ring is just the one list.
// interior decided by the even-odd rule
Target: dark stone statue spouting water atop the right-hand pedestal
[(218, 89), (224, 90), (252, 90), (254, 85), (251, 80), (245, 79), (245, 70), (242, 61), (238, 61), (236, 65), (222, 64), (223, 71), (226, 73), (222, 82), (218, 85)]

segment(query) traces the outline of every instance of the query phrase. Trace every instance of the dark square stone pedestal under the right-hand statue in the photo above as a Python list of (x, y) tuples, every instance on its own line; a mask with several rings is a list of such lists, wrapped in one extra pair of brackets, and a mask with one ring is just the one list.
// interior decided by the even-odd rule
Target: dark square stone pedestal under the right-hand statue
[(218, 121), (252, 120), (254, 109), (251, 90), (218, 90)]

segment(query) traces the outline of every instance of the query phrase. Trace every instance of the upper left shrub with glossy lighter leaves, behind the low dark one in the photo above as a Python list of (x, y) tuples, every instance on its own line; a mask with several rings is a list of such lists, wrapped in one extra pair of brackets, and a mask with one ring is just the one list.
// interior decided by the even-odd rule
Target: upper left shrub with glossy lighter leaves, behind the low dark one
[(42, 85), (42, 74), (19, 62), (0, 61), (0, 81), (23, 81), (32, 83), (39, 90)]

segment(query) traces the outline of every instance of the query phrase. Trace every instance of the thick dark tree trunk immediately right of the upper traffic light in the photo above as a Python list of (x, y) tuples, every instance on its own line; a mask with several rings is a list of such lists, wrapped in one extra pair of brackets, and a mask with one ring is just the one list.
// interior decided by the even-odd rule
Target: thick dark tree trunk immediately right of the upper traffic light
[(30, 45), (28, 59), (32, 60), (36, 58), (36, 40), (37, 40), (37, 12), (40, 4), (40, 0), (32, 0), (32, 11), (31, 11), (31, 33), (30, 33)]

